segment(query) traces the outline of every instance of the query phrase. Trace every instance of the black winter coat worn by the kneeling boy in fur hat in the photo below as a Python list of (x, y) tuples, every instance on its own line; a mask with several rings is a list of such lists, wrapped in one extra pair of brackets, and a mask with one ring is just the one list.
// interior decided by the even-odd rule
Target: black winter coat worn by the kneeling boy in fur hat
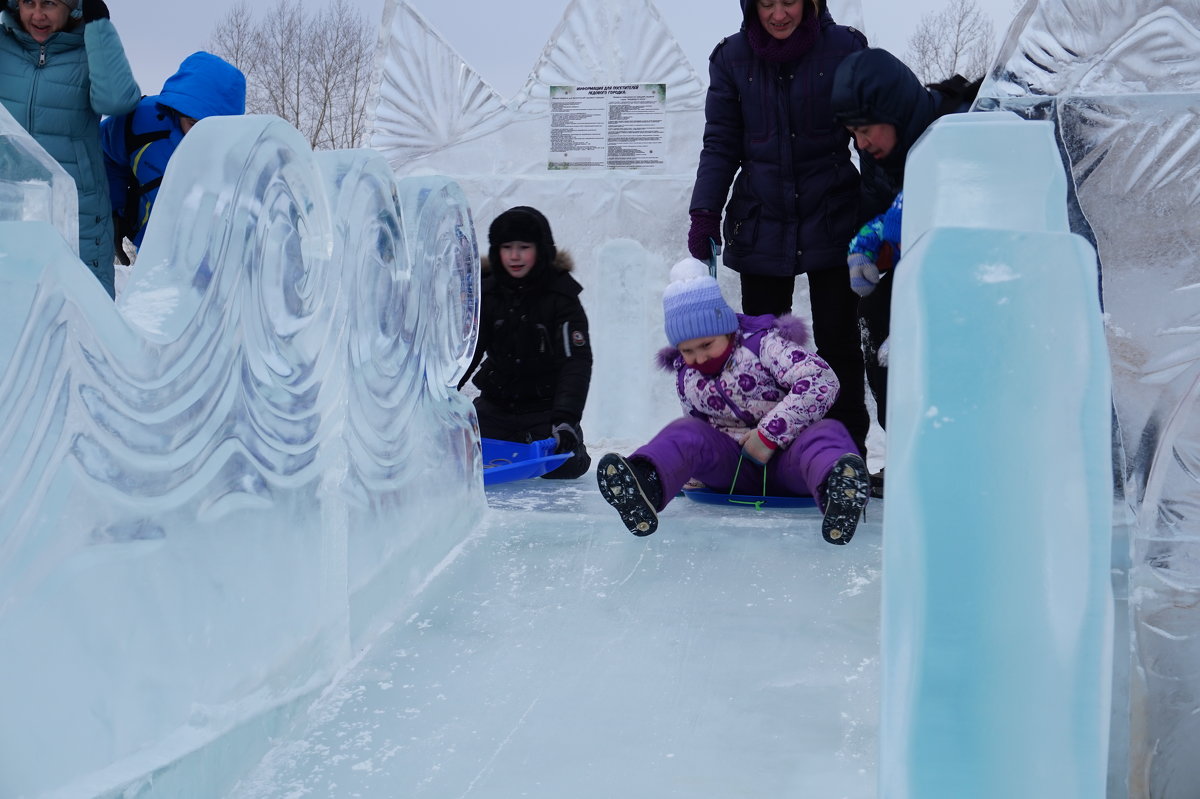
[(514, 414), (550, 411), (552, 425), (578, 426), (592, 382), (592, 342), (572, 266), (570, 253), (559, 250), (553, 264), (514, 280), (485, 259), (479, 343), (458, 388), (479, 366), (472, 383), (484, 400)]

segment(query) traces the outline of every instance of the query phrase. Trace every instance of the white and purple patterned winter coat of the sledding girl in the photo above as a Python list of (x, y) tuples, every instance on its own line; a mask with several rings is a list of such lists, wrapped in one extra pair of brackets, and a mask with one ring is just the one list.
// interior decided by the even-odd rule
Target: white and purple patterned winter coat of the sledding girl
[(824, 417), (838, 397), (838, 377), (806, 349), (809, 334), (792, 316), (738, 314), (733, 352), (715, 379), (684, 364), (674, 348), (659, 365), (676, 373), (684, 413), (704, 419), (733, 439), (757, 428), (779, 447)]

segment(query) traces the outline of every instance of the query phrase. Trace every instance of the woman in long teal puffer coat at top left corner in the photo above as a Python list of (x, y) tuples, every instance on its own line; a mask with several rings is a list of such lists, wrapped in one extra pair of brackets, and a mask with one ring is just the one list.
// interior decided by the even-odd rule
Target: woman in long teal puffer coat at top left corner
[(100, 118), (142, 90), (103, 0), (7, 0), (0, 13), (0, 102), (76, 181), (79, 259), (113, 296), (113, 216)]

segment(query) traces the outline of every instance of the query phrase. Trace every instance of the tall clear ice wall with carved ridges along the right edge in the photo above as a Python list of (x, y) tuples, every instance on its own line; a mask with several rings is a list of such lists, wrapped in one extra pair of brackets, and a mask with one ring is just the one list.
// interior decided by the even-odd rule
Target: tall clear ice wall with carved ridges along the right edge
[(1099, 256), (1132, 639), (1115, 662), (1109, 795), (1134, 799), (1200, 786), (1198, 25), (1196, 0), (1031, 1), (979, 100), (1055, 122), (1072, 227)]

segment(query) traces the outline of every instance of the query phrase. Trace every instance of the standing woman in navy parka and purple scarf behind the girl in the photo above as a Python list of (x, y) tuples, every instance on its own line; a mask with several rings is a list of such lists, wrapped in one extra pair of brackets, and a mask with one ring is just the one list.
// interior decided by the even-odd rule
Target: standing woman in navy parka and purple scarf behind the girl
[(866, 38), (835, 24), (824, 0), (739, 2), (742, 30), (709, 56), (688, 250), (706, 260), (709, 241), (724, 241), (750, 316), (788, 313), (796, 276), (809, 276), (814, 341), (841, 383), (829, 416), (862, 450), (869, 419), (858, 296), (846, 274), (859, 178), (829, 97), (838, 65)]

